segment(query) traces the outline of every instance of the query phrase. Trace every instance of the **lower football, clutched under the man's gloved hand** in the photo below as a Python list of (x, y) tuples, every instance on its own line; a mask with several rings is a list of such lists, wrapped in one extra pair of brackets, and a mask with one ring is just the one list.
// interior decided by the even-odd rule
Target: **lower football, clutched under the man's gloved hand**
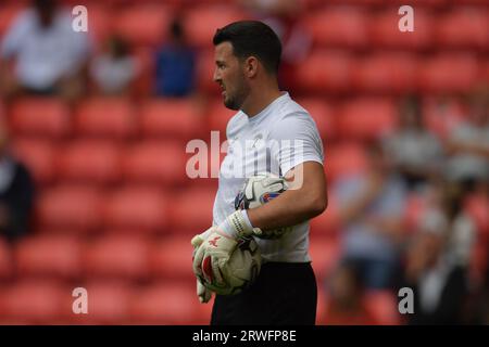
[[(220, 295), (236, 295), (249, 287), (262, 267), (260, 248), (254, 239), (240, 239), (228, 262), (222, 269), (223, 285), (202, 282), (209, 290)], [(204, 270), (205, 271), (205, 270)], [(212, 271), (212, 270), (211, 270)]]

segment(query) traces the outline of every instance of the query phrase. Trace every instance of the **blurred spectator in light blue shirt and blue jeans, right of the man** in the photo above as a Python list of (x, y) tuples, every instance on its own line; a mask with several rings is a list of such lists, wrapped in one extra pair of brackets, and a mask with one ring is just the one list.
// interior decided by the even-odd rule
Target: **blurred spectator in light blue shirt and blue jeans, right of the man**
[(342, 226), (342, 258), (356, 264), (367, 288), (389, 288), (403, 239), (406, 189), (377, 143), (371, 170), (340, 179), (333, 190)]

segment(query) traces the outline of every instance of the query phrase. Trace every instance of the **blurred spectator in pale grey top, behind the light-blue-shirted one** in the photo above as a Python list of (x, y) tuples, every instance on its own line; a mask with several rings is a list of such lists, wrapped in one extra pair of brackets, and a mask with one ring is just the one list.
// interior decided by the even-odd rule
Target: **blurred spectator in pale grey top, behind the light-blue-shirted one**
[(386, 140), (385, 150), (408, 187), (416, 189), (436, 175), (442, 160), (442, 149), (424, 126), (417, 98), (404, 99), (399, 115), (400, 128)]

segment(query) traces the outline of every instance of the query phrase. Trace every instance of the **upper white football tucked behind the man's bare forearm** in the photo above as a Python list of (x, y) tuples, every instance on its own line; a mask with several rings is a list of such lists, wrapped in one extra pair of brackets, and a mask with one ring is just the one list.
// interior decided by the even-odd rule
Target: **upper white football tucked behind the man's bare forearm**
[[(244, 181), (242, 189), (235, 198), (236, 209), (260, 207), (274, 200), (288, 189), (287, 181), (274, 174), (265, 172), (252, 176)], [(291, 227), (268, 230), (266, 233), (255, 235), (260, 239), (278, 239), (289, 232)]]

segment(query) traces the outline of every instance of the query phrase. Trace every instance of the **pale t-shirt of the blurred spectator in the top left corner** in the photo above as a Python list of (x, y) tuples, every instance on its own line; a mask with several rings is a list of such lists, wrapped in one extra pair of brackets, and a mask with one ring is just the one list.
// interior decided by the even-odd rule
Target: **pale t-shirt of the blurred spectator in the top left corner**
[(4, 59), (16, 57), (15, 74), (22, 85), (35, 89), (52, 87), (61, 77), (76, 74), (89, 54), (89, 38), (74, 31), (70, 13), (57, 12), (43, 28), (34, 10), (26, 10), (9, 28), (0, 47)]

